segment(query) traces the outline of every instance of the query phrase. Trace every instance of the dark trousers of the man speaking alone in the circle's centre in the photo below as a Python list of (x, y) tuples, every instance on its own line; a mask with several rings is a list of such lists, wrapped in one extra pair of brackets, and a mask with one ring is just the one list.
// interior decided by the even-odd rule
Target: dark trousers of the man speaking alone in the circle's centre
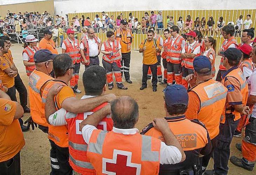
[(142, 66), (142, 86), (147, 86), (147, 75), (148, 75), (148, 68), (150, 67), (151, 72), (152, 72), (152, 86), (157, 87), (157, 63), (155, 64), (143, 64)]

